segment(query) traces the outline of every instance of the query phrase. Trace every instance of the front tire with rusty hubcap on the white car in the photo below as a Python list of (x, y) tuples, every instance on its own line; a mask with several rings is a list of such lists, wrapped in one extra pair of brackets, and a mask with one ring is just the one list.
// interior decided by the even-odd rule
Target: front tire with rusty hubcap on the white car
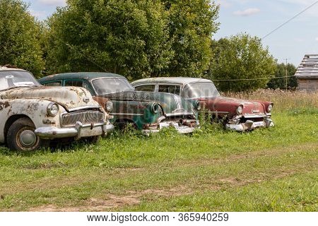
[(20, 118), (11, 124), (6, 135), (6, 143), (11, 150), (33, 151), (49, 144), (35, 135), (35, 125), (28, 118)]

